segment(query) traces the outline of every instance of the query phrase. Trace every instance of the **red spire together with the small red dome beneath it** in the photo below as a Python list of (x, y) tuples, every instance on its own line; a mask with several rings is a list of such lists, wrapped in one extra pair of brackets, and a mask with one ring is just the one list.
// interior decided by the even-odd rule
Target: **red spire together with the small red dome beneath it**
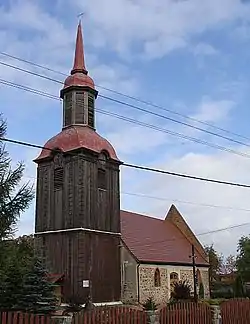
[(82, 27), (80, 22), (77, 28), (73, 69), (71, 70), (71, 75), (66, 78), (63, 89), (70, 86), (84, 86), (95, 90), (94, 81), (88, 76), (88, 71), (85, 67)]

